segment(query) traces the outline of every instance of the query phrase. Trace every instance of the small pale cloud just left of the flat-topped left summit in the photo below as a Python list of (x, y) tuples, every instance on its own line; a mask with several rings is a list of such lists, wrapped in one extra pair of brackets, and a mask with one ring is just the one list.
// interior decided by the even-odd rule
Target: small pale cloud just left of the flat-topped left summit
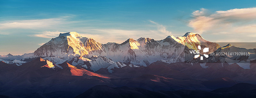
[(45, 32), (40, 32), (39, 34), (34, 34), (34, 35), (32, 35), (32, 36), (35, 36), (35, 37), (42, 37), (42, 38), (55, 38), (55, 37), (58, 37), (60, 33), (66, 33), (66, 32), (59, 32), (59, 31), (51, 32), (51, 31), (45, 31)]

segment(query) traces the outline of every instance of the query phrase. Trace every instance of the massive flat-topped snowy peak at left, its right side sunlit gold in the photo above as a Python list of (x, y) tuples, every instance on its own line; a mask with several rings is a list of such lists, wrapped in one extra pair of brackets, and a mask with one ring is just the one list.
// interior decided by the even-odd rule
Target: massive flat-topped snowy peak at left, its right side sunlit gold
[[(39, 47), (34, 54), (36, 56), (62, 56), (65, 53), (72, 54), (76, 53), (81, 56), (88, 55), (91, 48), (90, 46), (95, 46), (90, 43), (90, 40), (86, 37), (81, 37), (80, 34), (76, 32), (60, 33), (59, 37), (51, 39), (49, 42), (45, 43), (43, 46)], [(97, 43), (99, 44), (99, 43)], [(85, 47), (85, 46), (89, 47)], [(101, 45), (101, 44), (100, 44)], [(96, 50), (96, 49), (94, 49)]]

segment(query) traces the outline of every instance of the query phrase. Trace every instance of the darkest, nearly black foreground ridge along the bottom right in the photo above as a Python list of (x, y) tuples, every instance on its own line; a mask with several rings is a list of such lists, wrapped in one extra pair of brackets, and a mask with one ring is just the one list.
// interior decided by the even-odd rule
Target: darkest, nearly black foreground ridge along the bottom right
[[(236, 86), (252, 86), (252, 84), (240, 83)], [(255, 86), (255, 85), (253, 85)], [(177, 91), (149, 91), (143, 88), (131, 88), (131, 87), (120, 87), (113, 88), (104, 85), (98, 85), (90, 88), (84, 93), (76, 96), (75, 98), (254, 98), (256, 97), (256, 89), (232, 89), (229, 92), (222, 92), (222, 89), (230, 88), (219, 88), (212, 92), (201, 91), (201, 90), (177, 90)], [(100, 93), (100, 94), (99, 94)]]

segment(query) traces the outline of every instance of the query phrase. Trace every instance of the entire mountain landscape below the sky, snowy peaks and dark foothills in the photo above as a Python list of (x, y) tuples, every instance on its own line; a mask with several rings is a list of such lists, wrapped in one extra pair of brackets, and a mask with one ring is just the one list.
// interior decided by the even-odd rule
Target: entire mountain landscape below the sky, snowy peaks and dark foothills
[(0, 95), (254, 97), (255, 51), (221, 47), (191, 32), (162, 40), (124, 39), (121, 44), (60, 33), (34, 53), (0, 55)]

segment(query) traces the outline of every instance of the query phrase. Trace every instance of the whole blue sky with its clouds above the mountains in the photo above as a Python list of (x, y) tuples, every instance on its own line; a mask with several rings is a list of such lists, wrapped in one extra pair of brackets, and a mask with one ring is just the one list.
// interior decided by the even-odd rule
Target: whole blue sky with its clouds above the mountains
[(0, 55), (33, 53), (60, 33), (106, 44), (186, 32), (211, 42), (256, 42), (255, 0), (1, 0)]

